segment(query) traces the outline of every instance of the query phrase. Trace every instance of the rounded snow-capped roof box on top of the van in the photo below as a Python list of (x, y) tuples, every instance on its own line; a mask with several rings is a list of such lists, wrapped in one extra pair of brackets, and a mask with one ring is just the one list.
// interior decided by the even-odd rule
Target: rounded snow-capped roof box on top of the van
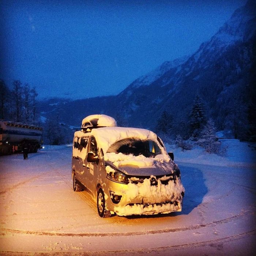
[(113, 117), (103, 114), (95, 114), (87, 116), (82, 121), (81, 128), (99, 128), (99, 127), (116, 127), (116, 120)]

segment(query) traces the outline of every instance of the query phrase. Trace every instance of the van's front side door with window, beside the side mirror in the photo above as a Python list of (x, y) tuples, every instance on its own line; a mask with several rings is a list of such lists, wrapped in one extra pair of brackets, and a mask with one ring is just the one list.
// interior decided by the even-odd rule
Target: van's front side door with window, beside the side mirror
[[(98, 147), (94, 136), (91, 136), (90, 138), (88, 152), (93, 152), (95, 154), (95, 157), (98, 157)], [(87, 172), (86, 183), (87, 188), (89, 188), (92, 192), (95, 190), (95, 181), (97, 181), (98, 163), (99, 161), (96, 161), (95, 163), (87, 163), (87, 168), (89, 169), (89, 172)]]

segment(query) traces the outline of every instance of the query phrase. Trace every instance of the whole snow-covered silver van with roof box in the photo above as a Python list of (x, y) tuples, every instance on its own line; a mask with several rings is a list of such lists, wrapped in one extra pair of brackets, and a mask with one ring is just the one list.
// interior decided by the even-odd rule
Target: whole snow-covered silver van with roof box
[(171, 157), (154, 132), (91, 115), (74, 134), (73, 188), (93, 194), (101, 217), (181, 211), (185, 189)]

